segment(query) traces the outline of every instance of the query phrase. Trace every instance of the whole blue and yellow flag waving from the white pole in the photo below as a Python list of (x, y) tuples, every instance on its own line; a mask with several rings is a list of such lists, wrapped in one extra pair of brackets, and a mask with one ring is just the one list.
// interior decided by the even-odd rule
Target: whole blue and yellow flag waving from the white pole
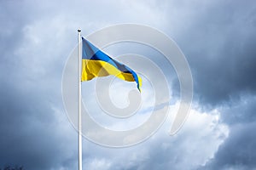
[(137, 82), (137, 88), (141, 91), (142, 79), (135, 71), (103, 53), (84, 37), (82, 37), (82, 44), (82, 82), (94, 77), (113, 75), (121, 80)]

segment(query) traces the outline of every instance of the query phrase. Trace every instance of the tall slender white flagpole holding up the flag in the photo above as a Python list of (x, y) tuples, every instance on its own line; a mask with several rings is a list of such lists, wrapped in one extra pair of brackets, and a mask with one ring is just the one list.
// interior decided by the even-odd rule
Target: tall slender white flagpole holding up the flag
[(79, 33), (79, 59), (78, 59), (78, 145), (79, 145), (79, 170), (82, 170), (82, 115), (81, 115), (81, 60), (82, 60), (82, 48), (81, 48), (81, 30)]

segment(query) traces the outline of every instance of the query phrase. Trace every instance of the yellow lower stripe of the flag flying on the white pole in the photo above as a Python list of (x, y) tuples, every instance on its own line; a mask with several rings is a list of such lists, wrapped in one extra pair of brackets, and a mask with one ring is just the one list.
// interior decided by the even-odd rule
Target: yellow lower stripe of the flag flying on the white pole
[[(82, 77), (81, 81), (88, 81), (94, 77), (107, 77), (113, 75), (121, 80), (135, 82), (131, 73), (119, 71), (115, 66), (106, 61), (94, 59), (82, 59)], [(141, 77), (138, 77), (139, 84), (142, 84)]]

